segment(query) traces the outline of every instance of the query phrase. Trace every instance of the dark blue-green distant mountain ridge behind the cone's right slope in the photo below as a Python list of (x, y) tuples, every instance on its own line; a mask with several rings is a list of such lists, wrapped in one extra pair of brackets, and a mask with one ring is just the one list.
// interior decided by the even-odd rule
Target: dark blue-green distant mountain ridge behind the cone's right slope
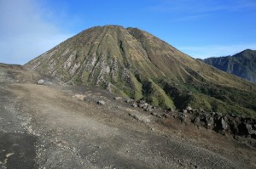
[(256, 82), (256, 50), (244, 50), (233, 56), (203, 59), (208, 65)]

